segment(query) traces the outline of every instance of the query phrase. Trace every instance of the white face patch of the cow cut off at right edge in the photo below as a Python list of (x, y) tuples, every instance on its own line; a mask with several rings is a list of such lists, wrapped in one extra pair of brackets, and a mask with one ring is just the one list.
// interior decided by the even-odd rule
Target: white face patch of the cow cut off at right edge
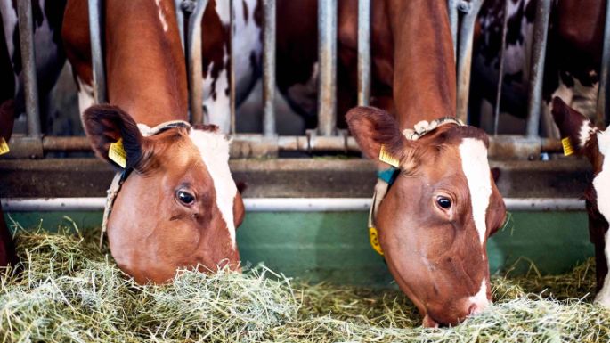
[[(593, 179), (593, 188), (597, 193), (599, 213), (610, 223), (610, 134), (608, 130), (598, 133), (599, 152), (604, 156), (601, 172)], [(610, 266), (610, 235), (604, 236), (606, 249), (606, 263)], [(610, 307), (610, 273), (606, 274), (606, 279), (602, 289), (599, 290), (595, 301), (603, 306)]]

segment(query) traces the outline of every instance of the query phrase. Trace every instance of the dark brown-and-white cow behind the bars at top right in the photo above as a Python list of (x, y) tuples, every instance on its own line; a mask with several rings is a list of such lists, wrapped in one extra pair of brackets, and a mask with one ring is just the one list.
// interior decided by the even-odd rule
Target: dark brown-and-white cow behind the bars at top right
[[(533, 0), (508, 1), (501, 110), (519, 118), (525, 118), (527, 113), (535, 4)], [(504, 0), (487, 0), (479, 13), (470, 92), (473, 123), (478, 123), (482, 103), (495, 101), (504, 5)], [(558, 136), (550, 115), (554, 96), (588, 118), (595, 116), (605, 23), (604, 0), (562, 0), (551, 4), (542, 87), (541, 129), (545, 135)], [(491, 105), (483, 108), (491, 109)]]

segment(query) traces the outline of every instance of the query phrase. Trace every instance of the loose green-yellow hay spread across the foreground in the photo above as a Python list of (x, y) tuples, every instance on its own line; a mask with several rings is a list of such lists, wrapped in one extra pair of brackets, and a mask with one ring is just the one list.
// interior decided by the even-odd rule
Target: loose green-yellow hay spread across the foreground
[(295, 283), (264, 266), (140, 286), (95, 233), (18, 230), (16, 240), (22, 263), (0, 282), (0, 342), (610, 340), (610, 311), (590, 303), (591, 260), (560, 276), (495, 277), (492, 308), (432, 330), (398, 290)]

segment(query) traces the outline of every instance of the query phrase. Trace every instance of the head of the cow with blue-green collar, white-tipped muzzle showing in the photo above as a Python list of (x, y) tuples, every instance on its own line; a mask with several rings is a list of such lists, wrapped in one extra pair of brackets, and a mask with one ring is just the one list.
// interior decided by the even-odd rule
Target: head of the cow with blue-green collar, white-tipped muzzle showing
[(347, 121), (370, 159), (383, 144), (400, 161), (376, 225), (390, 272), (424, 325), (456, 324), (481, 312), (491, 302), (487, 237), (506, 216), (487, 136), (448, 124), (411, 141), (386, 111), (370, 107), (350, 110)]

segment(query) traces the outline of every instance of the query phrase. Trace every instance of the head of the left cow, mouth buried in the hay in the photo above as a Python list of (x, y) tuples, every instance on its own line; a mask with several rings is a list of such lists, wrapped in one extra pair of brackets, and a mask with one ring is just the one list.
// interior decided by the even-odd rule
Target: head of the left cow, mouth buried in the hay
[(235, 228), (243, 203), (229, 170), (229, 142), (216, 127), (175, 127), (143, 136), (118, 107), (85, 110), (86, 134), (109, 161), (122, 138), (126, 178), (108, 221), (112, 256), (137, 282), (166, 282), (176, 268), (239, 269)]

